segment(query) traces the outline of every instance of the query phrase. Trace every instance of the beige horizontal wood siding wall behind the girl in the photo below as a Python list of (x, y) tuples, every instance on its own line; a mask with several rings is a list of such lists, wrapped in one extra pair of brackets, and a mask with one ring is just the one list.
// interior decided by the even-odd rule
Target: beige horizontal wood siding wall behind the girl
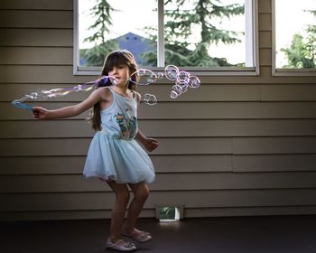
[[(72, 75), (72, 14), (72, 0), (0, 2), (0, 220), (110, 215), (113, 193), (81, 175), (87, 114), (36, 121), (9, 103), (94, 78)], [(160, 141), (143, 217), (157, 204), (184, 205), (185, 217), (316, 213), (316, 78), (271, 75), (271, 23), (270, 1), (259, 0), (260, 76), (202, 78), (175, 101), (171, 84), (139, 89), (159, 99), (139, 110), (144, 133)]]

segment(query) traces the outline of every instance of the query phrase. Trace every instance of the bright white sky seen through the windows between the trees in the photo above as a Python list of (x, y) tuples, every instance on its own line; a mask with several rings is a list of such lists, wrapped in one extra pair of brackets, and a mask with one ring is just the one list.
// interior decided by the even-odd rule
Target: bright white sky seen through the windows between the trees
[[(191, 0), (188, 0), (190, 3)], [(85, 38), (88, 36), (88, 24), (93, 23), (93, 20), (88, 16), (89, 6), (93, 5), (95, 0), (79, 0), (79, 14), (85, 16), (85, 23), (79, 23), (79, 36)], [(245, 0), (222, 0), (226, 5), (237, 3), (242, 4)], [(116, 38), (125, 33), (136, 33), (146, 37), (144, 33), (144, 26), (153, 26), (156, 24), (156, 12), (153, 12), (153, 6), (156, 5), (156, 0), (108, 0), (108, 3), (116, 9), (122, 10), (113, 14), (113, 21), (115, 29), (112, 31), (113, 37)], [(123, 4), (122, 4), (123, 3)], [(307, 23), (315, 23), (315, 17), (304, 12), (304, 9), (316, 9), (316, 0), (301, 0), (300, 5), (297, 5), (297, 0), (275, 0), (275, 25), (276, 25), (276, 52), (280, 48), (286, 47), (290, 44), (293, 34), (302, 32), (303, 27)], [(286, 6), (286, 7), (284, 7)], [(82, 12), (82, 10), (84, 10)], [(145, 15), (142, 13), (146, 13)], [(295, 18), (293, 18), (295, 17)], [(224, 20), (221, 23), (222, 27), (229, 30), (240, 31), (245, 27), (245, 20), (242, 16), (233, 17), (230, 22)], [(241, 29), (240, 29), (241, 28)], [(197, 30), (198, 32), (198, 30)], [(281, 34), (278, 36), (278, 34)], [(192, 34), (190, 40), (194, 40), (199, 34)], [(93, 44), (83, 43), (79, 41), (80, 48), (88, 48)], [(229, 62), (238, 63), (245, 61), (244, 57), (241, 59), (240, 55), (245, 55), (245, 46), (243, 44), (235, 44), (227, 46), (223, 43), (213, 45), (210, 47), (210, 54), (213, 57), (225, 57)], [(285, 63), (284, 57), (281, 53), (277, 53), (276, 65)]]

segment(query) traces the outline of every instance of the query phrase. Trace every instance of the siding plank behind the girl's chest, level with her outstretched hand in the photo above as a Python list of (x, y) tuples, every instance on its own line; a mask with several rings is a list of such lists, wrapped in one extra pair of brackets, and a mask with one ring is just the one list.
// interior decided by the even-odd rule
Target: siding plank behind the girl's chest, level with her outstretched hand
[[(49, 109), (74, 105), (74, 102), (32, 102), (30, 105)], [(0, 102), (0, 120), (32, 119), (32, 115), (17, 110), (9, 102)], [(160, 102), (154, 107), (142, 104), (140, 119), (280, 119), (316, 118), (316, 101), (304, 102)], [(88, 112), (76, 119), (85, 119)], [(41, 124), (41, 123), (40, 123)]]

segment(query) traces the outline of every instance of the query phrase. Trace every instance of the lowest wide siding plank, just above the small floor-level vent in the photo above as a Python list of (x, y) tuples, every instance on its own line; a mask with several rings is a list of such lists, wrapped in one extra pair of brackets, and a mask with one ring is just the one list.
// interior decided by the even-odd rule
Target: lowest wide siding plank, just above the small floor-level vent
[[(144, 209), (156, 205), (181, 205), (186, 208), (315, 206), (315, 189), (220, 190), (220, 191), (162, 191), (151, 193)], [(166, 195), (168, 198), (166, 198)], [(110, 210), (113, 192), (42, 192), (0, 195), (1, 211), (71, 211)]]

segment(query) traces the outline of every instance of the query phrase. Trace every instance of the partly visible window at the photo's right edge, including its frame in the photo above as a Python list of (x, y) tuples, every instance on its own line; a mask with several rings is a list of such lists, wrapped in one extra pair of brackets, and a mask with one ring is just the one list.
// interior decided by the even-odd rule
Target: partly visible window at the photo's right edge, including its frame
[(273, 6), (274, 75), (316, 75), (316, 1), (274, 0)]

